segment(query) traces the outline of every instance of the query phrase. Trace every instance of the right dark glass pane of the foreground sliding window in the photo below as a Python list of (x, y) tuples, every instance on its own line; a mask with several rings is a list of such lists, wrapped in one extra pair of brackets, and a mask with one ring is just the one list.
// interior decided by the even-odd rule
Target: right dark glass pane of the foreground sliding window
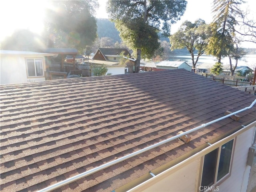
[(218, 168), (217, 181), (229, 173), (233, 141), (234, 140), (231, 140), (221, 146), (220, 163), (219, 163), (219, 168)]

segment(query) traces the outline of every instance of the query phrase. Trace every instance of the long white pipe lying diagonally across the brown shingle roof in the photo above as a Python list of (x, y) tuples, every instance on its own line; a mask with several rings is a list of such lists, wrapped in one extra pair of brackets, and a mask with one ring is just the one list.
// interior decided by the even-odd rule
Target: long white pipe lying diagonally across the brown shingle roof
[(110, 162), (105, 163), (105, 164), (103, 164), (103, 165), (101, 165), (101, 166), (98, 166), (98, 167), (96, 167), (96, 168), (93, 168), (93, 169), (91, 169), (91, 170), (88, 170), (88, 171), (86, 171), (86, 172), (83, 172), (83, 173), (81, 173), (81, 174), (78, 174), (78, 175), (76, 175), (76, 176), (73, 176), (73, 177), (71, 177), (71, 178), (68, 178), (68, 179), (66, 179), (66, 180), (63, 180), (63, 181), (58, 182), (58, 183), (56, 183), (56, 184), (53, 184), (53, 185), (51, 185), (51, 186), (48, 186), (48, 187), (46, 187), (46, 188), (44, 188), (44, 189), (42, 189), (42, 190), (39, 190), (38, 192), (49, 192), (49, 191), (52, 191), (52, 190), (54, 190), (54, 189), (60, 188), (60, 187), (62, 187), (62, 186), (64, 186), (64, 185), (67, 185), (67, 184), (69, 184), (69, 183), (72, 183), (72, 182), (74, 182), (74, 181), (76, 181), (76, 180), (78, 180), (78, 179), (81, 179), (81, 178), (86, 177), (86, 176), (88, 176), (88, 175), (91, 175), (91, 174), (93, 174), (93, 173), (95, 173), (95, 172), (98, 172), (98, 171), (100, 171), (100, 170), (103, 170), (103, 169), (105, 169), (105, 168), (108, 168), (108, 167), (110, 167), (110, 166), (112, 166), (112, 165), (115, 165), (115, 164), (120, 163), (120, 162), (122, 162), (122, 161), (124, 161), (124, 160), (127, 160), (127, 159), (129, 159), (129, 158), (131, 158), (131, 157), (134, 157), (134, 156), (136, 156), (136, 155), (139, 155), (139, 154), (141, 154), (141, 153), (143, 153), (143, 152), (146, 152), (146, 151), (148, 151), (148, 150), (150, 150), (150, 149), (156, 148), (156, 147), (158, 147), (158, 146), (160, 146), (160, 145), (162, 145), (162, 144), (165, 144), (165, 143), (170, 142), (170, 141), (172, 141), (172, 140), (178, 139), (178, 138), (180, 138), (181, 136), (184, 136), (184, 135), (186, 135), (186, 134), (189, 134), (189, 133), (191, 133), (191, 132), (194, 132), (194, 131), (196, 131), (196, 130), (199, 130), (199, 129), (201, 129), (201, 128), (204, 128), (204, 127), (206, 127), (206, 126), (208, 126), (208, 125), (210, 125), (210, 124), (213, 124), (213, 123), (215, 123), (215, 122), (218, 122), (218, 121), (220, 121), (220, 120), (222, 120), (222, 119), (228, 118), (228, 117), (230, 117), (230, 116), (232, 116), (232, 115), (235, 115), (235, 114), (240, 113), (240, 112), (242, 112), (242, 111), (244, 111), (244, 110), (247, 110), (247, 109), (249, 109), (249, 108), (252, 108), (252, 106), (253, 106), (255, 103), (256, 103), (256, 99), (255, 99), (255, 100), (252, 102), (252, 104), (251, 104), (250, 106), (248, 106), (248, 107), (245, 107), (245, 108), (240, 109), (240, 110), (238, 110), (238, 111), (236, 111), (236, 112), (230, 113), (230, 114), (228, 114), (228, 115), (226, 115), (226, 116), (223, 116), (223, 117), (218, 118), (218, 119), (216, 119), (216, 120), (210, 121), (210, 122), (208, 122), (208, 123), (206, 123), (206, 124), (202, 124), (201, 126), (198, 126), (198, 127), (196, 127), (196, 128), (193, 128), (193, 129), (191, 129), (191, 130), (188, 130), (188, 131), (186, 131), (186, 132), (184, 132), (184, 133), (178, 134), (178, 135), (176, 135), (176, 136), (173, 136), (173, 137), (171, 137), (171, 138), (168, 138), (168, 139), (166, 139), (166, 140), (163, 140), (163, 141), (161, 141), (161, 142), (158, 142), (158, 143), (156, 143), (156, 144), (153, 144), (153, 145), (151, 145), (151, 146), (148, 146), (148, 147), (146, 147), (146, 148), (144, 148), (144, 149), (138, 150), (138, 151), (136, 151), (136, 152), (133, 152), (133, 153), (131, 153), (131, 154), (128, 154), (128, 155), (123, 156), (123, 157), (121, 157), (121, 158), (118, 158), (118, 159), (116, 159), (116, 160), (110, 161)]

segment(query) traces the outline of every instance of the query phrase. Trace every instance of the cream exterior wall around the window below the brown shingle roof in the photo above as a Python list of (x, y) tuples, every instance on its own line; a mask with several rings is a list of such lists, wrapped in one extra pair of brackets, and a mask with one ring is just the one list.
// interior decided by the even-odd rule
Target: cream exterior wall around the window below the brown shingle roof
[[(254, 123), (255, 126), (255, 123)], [(246, 165), (248, 150), (252, 146), (254, 135), (254, 126), (245, 132), (241, 133), (236, 138), (234, 157), (231, 167), (230, 177), (226, 178), (222, 183), (217, 183), (214, 186), (218, 192), (244, 192), (247, 189), (248, 179), (250, 174), (250, 166)], [(219, 145), (221, 146), (221, 145)], [(210, 151), (208, 151), (210, 152)], [(208, 153), (207, 152), (207, 153)], [(205, 153), (205, 152), (204, 152)], [(199, 152), (192, 160), (187, 160), (186, 163), (181, 163), (178, 168), (170, 168), (161, 174), (143, 182), (128, 192), (194, 192), (199, 191), (200, 165), (201, 158), (204, 156)], [(175, 167), (175, 166), (174, 166)]]

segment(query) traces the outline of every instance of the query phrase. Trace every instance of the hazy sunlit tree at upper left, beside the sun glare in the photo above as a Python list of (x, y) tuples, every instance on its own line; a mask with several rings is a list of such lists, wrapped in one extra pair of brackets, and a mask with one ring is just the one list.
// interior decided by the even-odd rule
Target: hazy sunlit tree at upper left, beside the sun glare
[(82, 50), (97, 37), (94, 17), (98, 1), (51, 1), (46, 10), (46, 31), (49, 47), (72, 47)]

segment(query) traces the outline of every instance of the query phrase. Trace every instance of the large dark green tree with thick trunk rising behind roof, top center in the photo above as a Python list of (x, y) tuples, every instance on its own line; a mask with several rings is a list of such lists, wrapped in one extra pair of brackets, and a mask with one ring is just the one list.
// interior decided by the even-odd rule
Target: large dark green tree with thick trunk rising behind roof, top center
[(120, 37), (137, 53), (135, 72), (140, 56), (150, 58), (158, 49), (158, 31), (169, 36), (170, 26), (180, 19), (186, 0), (108, 0), (106, 10), (120, 32)]

